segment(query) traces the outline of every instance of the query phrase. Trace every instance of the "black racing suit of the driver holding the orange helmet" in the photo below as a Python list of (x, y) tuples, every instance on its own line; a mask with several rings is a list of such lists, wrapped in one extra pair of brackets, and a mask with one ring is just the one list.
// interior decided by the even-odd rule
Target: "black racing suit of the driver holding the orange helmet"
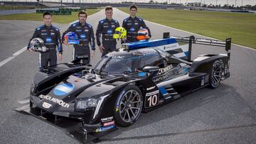
[(146, 26), (142, 18), (138, 18), (137, 16), (135, 16), (135, 18), (132, 18), (131, 16), (125, 18), (122, 23), (122, 27), (127, 30), (127, 40), (125, 41), (125, 43), (139, 41), (137, 39), (137, 33), (139, 31), (139, 28), (141, 27), (146, 28), (149, 31), (149, 37), (151, 37), (149, 27)]

